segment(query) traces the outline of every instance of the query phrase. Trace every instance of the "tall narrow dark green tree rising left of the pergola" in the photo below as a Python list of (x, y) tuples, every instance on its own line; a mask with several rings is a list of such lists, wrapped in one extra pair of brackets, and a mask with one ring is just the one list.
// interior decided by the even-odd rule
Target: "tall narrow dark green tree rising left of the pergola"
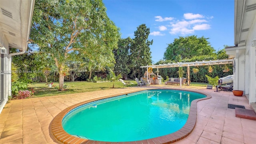
[(130, 61), (134, 60), (136, 62), (136, 65), (132, 65), (135, 66), (134, 73), (138, 78), (143, 75), (143, 72), (140, 71), (140, 66), (152, 64), (150, 45), (153, 44), (153, 40), (148, 40), (149, 34), (150, 29), (147, 28), (146, 24), (138, 26), (134, 32), (135, 37), (130, 47)]

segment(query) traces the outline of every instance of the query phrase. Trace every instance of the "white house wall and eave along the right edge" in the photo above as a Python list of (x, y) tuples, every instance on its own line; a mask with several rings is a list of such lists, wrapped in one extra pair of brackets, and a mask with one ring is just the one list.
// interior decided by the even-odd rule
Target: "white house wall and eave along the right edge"
[(256, 103), (256, 10), (255, 0), (235, 0), (234, 44), (226, 53), (234, 57), (234, 90), (243, 90)]

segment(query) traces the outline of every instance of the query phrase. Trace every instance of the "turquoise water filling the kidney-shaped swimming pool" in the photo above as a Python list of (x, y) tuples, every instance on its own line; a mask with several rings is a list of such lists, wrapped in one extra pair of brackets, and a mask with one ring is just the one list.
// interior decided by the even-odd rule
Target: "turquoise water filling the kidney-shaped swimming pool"
[(62, 126), (68, 134), (89, 140), (155, 138), (182, 128), (192, 100), (205, 97), (180, 90), (145, 90), (78, 108), (62, 120)]

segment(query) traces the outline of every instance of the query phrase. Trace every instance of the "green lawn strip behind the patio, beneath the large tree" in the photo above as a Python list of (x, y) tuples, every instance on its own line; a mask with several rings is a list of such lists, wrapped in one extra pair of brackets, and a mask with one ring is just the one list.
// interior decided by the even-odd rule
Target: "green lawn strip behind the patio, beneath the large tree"
[[(125, 80), (124, 82), (128, 82)], [(135, 80), (132, 80), (129, 82), (132, 82), (131, 86), (137, 86), (137, 83)], [(28, 88), (33, 89), (34, 96), (33, 97), (44, 97), (44, 96), (56, 96), (60, 94), (74, 94), (74, 93), (80, 93), (80, 92), (92, 92), (96, 90), (109, 90), (112, 89), (113, 82), (64, 82), (67, 85), (67, 90), (65, 91), (59, 91), (57, 89), (48, 88), (48, 85), (46, 83), (34, 83), (34, 84), (28, 84)], [(54, 82), (53, 86), (57, 86), (59, 83)], [(124, 86), (122, 82), (116, 81), (115, 82), (115, 88), (125, 88), (130, 86)]]

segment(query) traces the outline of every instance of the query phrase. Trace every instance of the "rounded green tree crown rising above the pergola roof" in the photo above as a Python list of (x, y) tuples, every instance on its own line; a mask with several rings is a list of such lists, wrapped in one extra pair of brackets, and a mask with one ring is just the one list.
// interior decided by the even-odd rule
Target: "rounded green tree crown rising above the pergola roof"
[(193, 56), (210, 55), (215, 51), (208, 42), (209, 38), (186, 36), (175, 38), (173, 43), (168, 44), (164, 52), (165, 60), (176, 60), (177, 56), (181, 59), (192, 58)]

